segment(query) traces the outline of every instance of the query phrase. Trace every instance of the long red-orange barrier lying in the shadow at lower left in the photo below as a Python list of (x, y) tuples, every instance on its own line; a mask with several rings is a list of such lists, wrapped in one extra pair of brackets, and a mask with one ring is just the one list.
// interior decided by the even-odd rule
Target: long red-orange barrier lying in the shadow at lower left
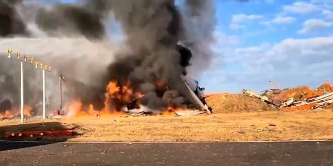
[(5, 137), (72, 136), (73, 130), (6, 132)]

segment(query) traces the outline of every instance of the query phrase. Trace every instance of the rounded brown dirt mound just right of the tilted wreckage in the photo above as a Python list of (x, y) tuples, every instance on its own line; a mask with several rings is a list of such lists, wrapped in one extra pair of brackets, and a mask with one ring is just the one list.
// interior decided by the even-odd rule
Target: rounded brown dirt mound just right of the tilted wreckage
[(215, 95), (206, 98), (213, 113), (235, 113), (275, 110), (267, 103), (243, 94)]

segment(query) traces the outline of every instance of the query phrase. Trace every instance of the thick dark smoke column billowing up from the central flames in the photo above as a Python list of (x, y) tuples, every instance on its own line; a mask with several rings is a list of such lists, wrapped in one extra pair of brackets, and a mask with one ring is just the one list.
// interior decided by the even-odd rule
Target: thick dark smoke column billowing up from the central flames
[(142, 104), (166, 108), (168, 103), (157, 96), (154, 84), (161, 80), (170, 85), (182, 74), (176, 45), (183, 29), (175, 2), (114, 1), (110, 9), (121, 23), (132, 53), (121, 54), (120, 59), (109, 66), (106, 81), (115, 79), (125, 85), (129, 78), (133, 88), (145, 94)]

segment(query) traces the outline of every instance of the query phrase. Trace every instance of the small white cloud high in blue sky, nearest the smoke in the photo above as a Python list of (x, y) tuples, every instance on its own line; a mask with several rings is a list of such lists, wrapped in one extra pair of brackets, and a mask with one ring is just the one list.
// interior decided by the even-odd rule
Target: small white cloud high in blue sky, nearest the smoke
[(233, 15), (230, 28), (233, 30), (245, 29), (253, 20), (261, 19), (260, 15)]

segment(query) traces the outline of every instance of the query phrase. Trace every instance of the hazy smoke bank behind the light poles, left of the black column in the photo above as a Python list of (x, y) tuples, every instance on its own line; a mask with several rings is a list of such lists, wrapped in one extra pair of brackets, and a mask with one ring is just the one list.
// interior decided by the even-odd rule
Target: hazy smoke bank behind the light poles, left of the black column
[[(105, 65), (112, 60), (113, 51), (117, 49), (112, 43), (105, 44), (105, 27), (99, 13), (75, 5), (56, 3), (48, 6), (31, 1), (10, 0), (1, 0), (0, 9), (0, 36), (9, 37), (0, 39), (2, 52), (11, 48), (32, 55), (64, 73), (67, 78), (64, 100), (80, 97), (83, 102), (103, 105), (100, 94), (105, 88), (96, 90), (93, 87), (101, 87)], [(24, 36), (31, 38), (21, 38)], [(99, 41), (91, 42), (84, 38)], [(25, 104), (40, 110), (41, 71), (32, 65), (25, 65), (24, 70)], [(59, 98), (58, 81), (55, 73), (49, 75), (46, 82), (49, 85), (46, 86), (49, 87), (47, 102), (54, 106)], [(7, 55), (0, 57), (0, 78), (0, 113), (18, 110), (19, 63), (8, 59)]]

